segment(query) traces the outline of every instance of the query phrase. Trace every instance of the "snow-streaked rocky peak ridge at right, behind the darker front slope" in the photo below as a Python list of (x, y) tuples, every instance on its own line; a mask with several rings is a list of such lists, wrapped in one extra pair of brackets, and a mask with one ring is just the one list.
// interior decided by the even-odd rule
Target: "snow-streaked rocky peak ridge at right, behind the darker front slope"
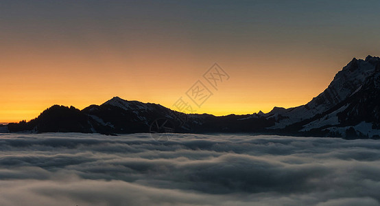
[(339, 71), (329, 87), (309, 103), (295, 108), (274, 108), (266, 115), (278, 121), (271, 128), (285, 128), (285, 126), (309, 119), (333, 108), (336, 104), (346, 100), (350, 95), (359, 91), (366, 79), (375, 72), (379, 57), (367, 56), (366, 60), (353, 58), (351, 62)]

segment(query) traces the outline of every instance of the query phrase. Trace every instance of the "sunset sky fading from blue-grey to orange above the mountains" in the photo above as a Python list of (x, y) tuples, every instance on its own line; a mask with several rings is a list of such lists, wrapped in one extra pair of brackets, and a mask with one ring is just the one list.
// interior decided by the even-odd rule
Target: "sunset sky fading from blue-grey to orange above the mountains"
[[(0, 122), (114, 96), (196, 113), (309, 102), (352, 58), (380, 56), (380, 1), (3, 1)], [(203, 78), (217, 62), (228, 80)], [(187, 91), (211, 93), (196, 106)], [(178, 109), (176, 109), (178, 110)]]

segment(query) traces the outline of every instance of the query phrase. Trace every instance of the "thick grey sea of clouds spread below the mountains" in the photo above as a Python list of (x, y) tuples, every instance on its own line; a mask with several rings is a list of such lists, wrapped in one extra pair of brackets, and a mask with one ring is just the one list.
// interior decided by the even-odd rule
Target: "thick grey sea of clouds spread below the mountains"
[(380, 141), (0, 134), (0, 205), (380, 205)]

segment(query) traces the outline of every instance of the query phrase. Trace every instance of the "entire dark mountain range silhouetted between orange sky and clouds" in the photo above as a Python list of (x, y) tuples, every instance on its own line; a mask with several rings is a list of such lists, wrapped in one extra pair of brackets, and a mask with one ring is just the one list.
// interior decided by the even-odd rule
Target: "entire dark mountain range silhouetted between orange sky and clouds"
[[(160, 104), (112, 98), (82, 111), (54, 105), (36, 119), (8, 124), (10, 132), (265, 133), (318, 137), (379, 138), (380, 58), (353, 58), (320, 95), (294, 108), (250, 115), (185, 114)], [(161, 125), (165, 126), (161, 127)], [(158, 129), (158, 130), (156, 130)], [(164, 130), (160, 130), (164, 129)]]

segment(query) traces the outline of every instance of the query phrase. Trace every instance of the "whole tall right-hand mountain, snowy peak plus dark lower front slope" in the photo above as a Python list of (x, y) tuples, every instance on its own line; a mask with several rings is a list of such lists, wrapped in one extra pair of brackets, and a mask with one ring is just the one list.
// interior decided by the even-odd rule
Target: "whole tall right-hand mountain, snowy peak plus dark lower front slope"
[[(379, 129), (379, 68), (379, 57), (353, 58), (336, 74), (329, 87), (309, 103), (296, 108), (274, 108), (265, 114), (276, 121), (270, 129), (323, 130), (329, 135), (346, 136), (346, 130), (352, 130), (352, 126), (357, 135), (380, 135), (376, 131)], [(368, 133), (363, 127), (375, 132)]]

